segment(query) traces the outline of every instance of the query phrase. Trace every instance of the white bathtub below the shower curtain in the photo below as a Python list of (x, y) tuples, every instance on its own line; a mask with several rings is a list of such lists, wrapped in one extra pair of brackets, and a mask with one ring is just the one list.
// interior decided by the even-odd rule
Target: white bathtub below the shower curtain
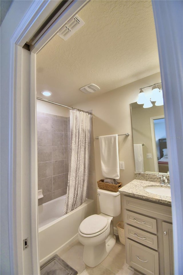
[(94, 201), (86, 201), (63, 216), (66, 195), (38, 207), (40, 265), (77, 239), (78, 228), (94, 214)]

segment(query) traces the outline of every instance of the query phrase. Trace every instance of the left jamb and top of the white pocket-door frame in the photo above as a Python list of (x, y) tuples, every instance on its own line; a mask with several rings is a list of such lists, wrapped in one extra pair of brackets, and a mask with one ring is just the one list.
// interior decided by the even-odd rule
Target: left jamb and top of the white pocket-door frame
[[(21, 20), (10, 41), (10, 78), (9, 78), (9, 175), (8, 175), (8, 224), (9, 224), (9, 243), (10, 247), (10, 269), (11, 274), (24, 274), (24, 267), (29, 262), (32, 270), (30, 274), (40, 274), (39, 268), (39, 249), (38, 249), (38, 198), (37, 198), (37, 128), (36, 128), (36, 53), (55, 35), (55, 33), (75, 15), (89, 0), (74, 0), (61, 13), (61, 15), (52, 23), (48, 30), (39, 38), (30, 53), (30, 126), (27, 125), (27, 131), (30, 132), (30, 160), (29, 169), (31, 178), (27, 182), (22, 181), (21, 170), (24, 162), (23, 154), (20, 149), (22, 136), (22, 119), (24, 113), (21, 111), (21, 101), (23, 95), (22, 89), (22, 64), (23, 64), (23, 45), (30, 40), (36, 30), (47, 19), (50, 13), (57, 7), (61, 1), (35, 0), (27, 10), (27, 13)], [(27, 63), (27, 67), (29, 64)], [(25, 130), (25, 128), (24, 128)], [(18, 174), (20, 172), (20, 174)], [(30, 185), (30, 193), (23, 194), (23, 184)], [(19, 192), (17, 191), (19, 190)], [(26, 223), (22, 219), (22, 209), (25, 206), (22, 203), (22, 196), (27, 197), (27, 203), (30, 201), (30, 228), (29, 249), (31, 249), (31, 259), (26, 257), (26, 251), (23, 251), (23, 227)], [(24, 202), (25, 203), (25, 202)], [(18, 230), (15, 228), (18, 227)], [(25, 230), (25, 229), (24, 229)], [(25, 232), (24, 232), (25, 233)]]

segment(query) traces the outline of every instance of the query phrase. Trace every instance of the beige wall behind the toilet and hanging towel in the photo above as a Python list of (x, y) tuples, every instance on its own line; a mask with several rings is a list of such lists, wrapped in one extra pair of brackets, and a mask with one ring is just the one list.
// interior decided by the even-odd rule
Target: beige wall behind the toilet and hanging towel
[[(134, 179), (135, 172), (130, 103), (137, 101), (139, 88), (157, 82), (161, 82), (160, 73), (153, 74), (100, 95), (89, 102), (80, 103), (74, 106), (83, 110), (93, 110), (94, 137), (130, 133), (129, 137), (118, 137), (119, 160), (124, 161), (125, 166), (125, 170), (120, 170), (119, 179), (123, 186)], [(94, 147), (97, 182), (97, 180), (104, 178), (101, 172), (99, 140), (94, 139)], [(99, 207), (98, 212), (100, 212)], [(114, 219), (115, 227), (116, 223), (120, 220), (123, 220), (122, 213), (119, 217)]]

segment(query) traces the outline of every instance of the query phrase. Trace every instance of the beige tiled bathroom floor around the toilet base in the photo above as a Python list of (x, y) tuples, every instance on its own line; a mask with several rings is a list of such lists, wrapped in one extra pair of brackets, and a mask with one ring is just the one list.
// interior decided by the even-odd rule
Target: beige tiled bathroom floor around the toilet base
[(61, 251), (58, 256), (72, 268), (77, 270), (78, 275), (133, 275), (128, 269), (125, 260), (125, 246), (117, 237), (116, 244), (106, 259), (98, 266), (92, 268), (83, 262), (84, 246), (75, 241), (69, 247)]

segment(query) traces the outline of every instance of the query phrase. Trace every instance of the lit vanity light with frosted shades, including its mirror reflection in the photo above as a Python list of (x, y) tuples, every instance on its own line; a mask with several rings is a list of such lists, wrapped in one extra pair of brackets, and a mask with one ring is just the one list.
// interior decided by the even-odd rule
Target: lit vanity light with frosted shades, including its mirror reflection
[[(138, 100), (137, 103), (138, 104), (144, 104), (143, 108), (150, 108), (152, 107), (152, 102), (156, 102), (155, 105), (156, 106), (161, 106), (163, 105), (163, 93), (162, 90), (160, 91), (160, 87), (158, 87), (158, 85), (160, 85), (162, 83), (157, 83), (157, 84), (153, 84), (144, 88), (140, 88), (140, 93), (138, 95)], [(148, 87), (152, 87), (152, 95), (150, 95), (150, 97), (148, 98), (148, 96), (146, 97), (146, 94), (144, 93), (143, 89), (146, 89)]]

